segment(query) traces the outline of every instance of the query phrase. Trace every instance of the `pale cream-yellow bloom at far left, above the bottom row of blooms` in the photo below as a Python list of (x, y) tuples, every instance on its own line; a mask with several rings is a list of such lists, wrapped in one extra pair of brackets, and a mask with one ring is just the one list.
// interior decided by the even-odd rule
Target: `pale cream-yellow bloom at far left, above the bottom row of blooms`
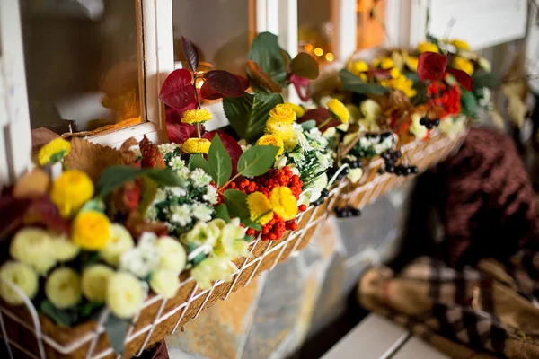
[(40, 228), (22, 228), (9, 246), (12, 258), (33, 267), (40, 275), (57, 264), (49, 232)]

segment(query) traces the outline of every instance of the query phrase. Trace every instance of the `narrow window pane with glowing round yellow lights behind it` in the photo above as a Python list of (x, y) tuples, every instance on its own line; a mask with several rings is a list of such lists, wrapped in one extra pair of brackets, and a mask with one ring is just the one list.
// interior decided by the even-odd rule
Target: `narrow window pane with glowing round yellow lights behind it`
[(307, 52), (319, 63), (332, 62), (334, 26), (332, 22), (333, 1), (298, 0), (299, 51)]

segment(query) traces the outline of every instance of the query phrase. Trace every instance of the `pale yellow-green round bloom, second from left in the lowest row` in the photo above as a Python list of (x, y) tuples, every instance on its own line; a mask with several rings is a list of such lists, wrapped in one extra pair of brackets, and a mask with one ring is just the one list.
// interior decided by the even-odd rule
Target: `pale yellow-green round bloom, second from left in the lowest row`
[(69, 267), (57, 268), (45, 282), (45, 295), (57, 309), (73, 307), (81, 301), (81, 277)]

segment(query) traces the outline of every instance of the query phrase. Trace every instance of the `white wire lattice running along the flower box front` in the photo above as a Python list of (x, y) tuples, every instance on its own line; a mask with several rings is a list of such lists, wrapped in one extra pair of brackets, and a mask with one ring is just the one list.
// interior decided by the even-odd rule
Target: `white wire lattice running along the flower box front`
[[(465, 135), (466, 134), (462, 134), (456, 139), (450, 139), (446, 136), (437, 136), (436, 138), (429, 140), (427, 143), (415, 141), (410, 144), (404, 144), (402, 146), (402, 151), (408, 153), (413, 162), (418, 163), (421, 168), (424, 168), (426, 165), (437, 163), (441, 159), (445, 158), (448, 153), (462, 143)], [(432, 158), (431, 161), (429, 161), (430, 158)], [(190, 308), (192, 308), (193, 305), (198, 305), (194, 303), (200, 298), (204, 297), (204, 299), (201, 300), (199, 307), (196, 308), (196, 311), (194, 311), (194, 314), (187, 317), (188, 320), (197, 318), (200, 312), (203, 311), (207, 306), (208, 302), (215, 302), (216, 299), (218, 299), (217, 297), (214, 297), (213, 300), (211, 300), (212, 294), (216, 292), (217, 288), (221, 288), (221, 285), (223, 285), (222, 288), (225, 288), (225, 285), (230, 285), (226, 290), (225, 295), (219, 295), (219, 297), (226, 299), (232, 292), (234, 292), (235, 289), (248, 285), (252, 281), (252, 278), (260, 274), (261, 271), (272, 269), (288, 256), (296, 255), (298, 250), (303, 248), (302, 244), (306, 245), (306, 241), (310, 240), (311, 235), (316, 231), (316, 228), (323, 223), (323, 221), (329, 215), (331, 208), (335, 206), (337, 201), (350, 201), (354, 198), (358, 198), (358, 196), (362, 196), (358, 203), (358, 207), (362, 208), (363, 206), (367, 206), (369, 202), (374, 201), (376, 197), (381, 195), (385, 190), (393, 188), (394, 186), (402, 183), (403, 180), (407, 179), (404, 177), (391, 176), (389, 174), (375, 175), (377, 168), (381, 163), (381, 159), (372, 161), (365, 169), (362, 180), (360, 180), (358, 185), (353, 190), (349, 191), (349, 193), (341, 194), (343, 189), (348, 187), (348, 184), (345, 181), (341, 181), (338, 186), (331, 188), (329, 196), (330, 198), (327, 201), (327, 206), (310, 206), (307, 211), (298, 215), (297, 223), (305, 223), (306, 221), (305, 226), (302, 228), (302, 225), (300, 224), (300, 228), (296, 232), (290, 232), (287, 239), (283, 241), (261, 241), (261, 236), (259, 235), (258, 238), (249, 243), (251, 257), (243, 259), (242, 265), (238, 266), (238, 269), (232, 276), (233, 279), (229, 283), (225, 283), (224, 281), (216, 281), (211, 288), (207, 290), (199, 290), (199, 285), (196, 283), (191, 283), (194, 282), (192, 277), (185, 279), (180, 283), (178, 289), (183, 286), (187, 287), (187, 285), (193, 285), (187, 301), (169, 309), (167, 309), (168, 301), (161, 295), (147, 297), (142, 308), (137, 312), (133, 325), (128, 328), (128, 333), (125, 338), (126, 347), (138, 337), (146, 335), (144, 340), (142, 340), (142, 343), (133, 351), (136, 356), (141, 355), (148, 344), (154, 343), (162, 338), (159, 337), (155, 339), (152, 337), (155, 332), (155, 328), (157, 328), (159, 325), (165, 325), (165, 321), (172, 320), (172, 317), (178, 315), (178, 319), (175, 321), (174, 326), (171, 327), (172, 330), (166, 330), (167, 335), (174, 333), (177, 328), (180, 327), (182, 321), (186, 318)], [(372, 178), (372, 180), (368, 180), (373, 176), (374, 178)], [(290, 245), (292, 245), (292, 249), (288, 250)], [(261, 249), (261, 246), (265, 246), (265, 248), (262, 247), (261, 253), (258, 256), (253, 256), (257, 250)], [(285, 255), (285, 253), (287, 253), (287, 255)], [(272, 256), (274, 256), (274, 258), (272, 258)], [(246, 275), (248, 270), (251, 269), (252, 272), (249, 274), (247, 280), (242, 284), (240, 278), (243, 275)], [(103, 323), (109, 314), (106, 309), (102, 311), (100, 319), (98, 320), (93, 331), (88, 332), (82, 337), (74, 337), (69, 343), (60, 343), (54, 337), (43, 333), (40, 323), (40, 316), (31, 300), (24, 295), (22, 290), (16, 285), (8, 282), (6, 283), (10, 285), (16, 293), (21, 295), (24, 306), (30, 313), (31, 317), (31, 322), (22, 320), (22, 318), (13, 312), (11, 308), (0, 304), (0, 337), (2, 337), (4, 340), (9, 358), (16, 357), (13, 356), (13, 349), (30, 358), (46, 359), (47, 357), (50, 358), (57, 355), (73, 355), (75, 352), (80, 351), (83, 346), (88, 346), (88, 349), (84, 352), (84, 357), (87, 359), (100, 359), (114, 355), (114, 351), (111, 347), (101, 349), (99, 352), (96, 350), (96, 348), (100, 347), (98, 344), (104, 332)], [(141, 314), (150, 306), (158, 302), (161, 303), (159, 304), (158, 310), (155, 311), (153, 320), (148, 320), (146, 325), (138, 328), (137, 324), (145, 324), (138, 323), (138, 321), (141, 320)], [(17, 339), (20, 339), (19, 337), (10, 337), (6, 319), (13, 321), (16, 325), (20, 325), (22, 328), (28, 330), (33, 337), (35, 337), (37, 348), (29, 348), (28, 346), (23, 345), (21, 342), (18, 342)], [(27, 341), (28, 340), (26, 340), (26, 342)], [(46, 350), (47, 347), (49, 347), (49, 350)], [(119, 358), (119, 355), (117, 355), (117, 357)]]

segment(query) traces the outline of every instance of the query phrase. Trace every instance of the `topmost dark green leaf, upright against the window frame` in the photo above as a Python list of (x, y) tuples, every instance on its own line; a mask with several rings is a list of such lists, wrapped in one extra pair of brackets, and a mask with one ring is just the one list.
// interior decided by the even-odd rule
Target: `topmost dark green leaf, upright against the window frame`
[(261, 32), (252, 40), (249, 50), (249, 59), (256, 62), (280, 87), (287, 80), (287, 53), (283, 56), (283, 52), (278, 46), (277, 36), (270, 32)]

